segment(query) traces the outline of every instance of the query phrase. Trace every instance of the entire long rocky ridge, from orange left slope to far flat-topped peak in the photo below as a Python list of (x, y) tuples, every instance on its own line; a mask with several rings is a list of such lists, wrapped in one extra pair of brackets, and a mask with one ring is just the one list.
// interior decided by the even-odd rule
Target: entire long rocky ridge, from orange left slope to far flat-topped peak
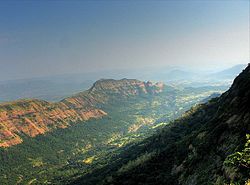
[(111, 94), (119, 96), (159, 93), (163, 85), (138, 80), (100, 80), (89, 90), (57, 103), (42, 100), (18, 100), (0, 104), (0, 147), (22, 142), (22, 134), (35, 137), (56, 128), (66, 128), (72, 122), (101, 118), (107, 113), (96, 108), (107, 103)]

